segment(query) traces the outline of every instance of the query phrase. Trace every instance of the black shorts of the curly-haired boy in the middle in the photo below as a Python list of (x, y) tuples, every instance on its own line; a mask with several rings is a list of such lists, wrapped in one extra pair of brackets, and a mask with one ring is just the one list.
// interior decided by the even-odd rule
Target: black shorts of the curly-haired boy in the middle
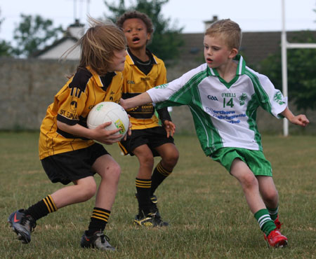
[(164, 127), (150, 127), (144, 130), (132, 130), (131, 136), (127, 135), (126, 141), (119, 142), (119, 147), (124, 155), (133, 154), (133, 150), (138, 146), (147, 145), (154, 157), (159, 156), (159, 153), (154, 149), (166, 143), (174, 144), (173, 137), (166, 137)]

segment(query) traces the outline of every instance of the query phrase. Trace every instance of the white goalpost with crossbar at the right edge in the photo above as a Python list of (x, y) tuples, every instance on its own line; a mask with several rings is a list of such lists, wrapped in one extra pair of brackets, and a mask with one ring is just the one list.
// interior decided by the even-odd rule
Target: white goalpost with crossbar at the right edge
[[(285, 0), (282, 0), (282, 34), (281, 34), (281, 56), (282, 56), (282, 92), (287, 97), (287, 49), (288, 48), (316, 48), (316, 43), (289, 43), (287, 42), (287, 31), (285, 29)], [(283, 135), (289, 135), (289, 121), (283, 119)]]

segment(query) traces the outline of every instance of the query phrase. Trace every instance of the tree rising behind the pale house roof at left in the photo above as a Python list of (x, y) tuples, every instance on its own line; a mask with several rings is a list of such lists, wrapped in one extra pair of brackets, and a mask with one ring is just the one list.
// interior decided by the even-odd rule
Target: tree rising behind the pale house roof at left
[(15, 28), (13, 38), (16, 47), (13, 53), (18, 57), (29, 57), (34, 52), (45, 48), (46, 45), (56, 40), (63, 32), (61, 26), (53, 27), (52, 20), (45, 20), (40, 15), (20, 15), (22, 22)]

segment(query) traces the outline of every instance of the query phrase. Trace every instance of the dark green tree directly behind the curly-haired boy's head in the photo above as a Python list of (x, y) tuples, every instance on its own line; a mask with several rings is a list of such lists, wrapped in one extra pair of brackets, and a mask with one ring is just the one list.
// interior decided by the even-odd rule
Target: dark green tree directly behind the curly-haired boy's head
[(153, 41), (150, 43), (150, 50), (161, 59), (171, 60), (176, 59), (180, 53), (179, 47), (183, 45), (181, 32), (183, 28), (177, 28), (176, 25), (171, 25), (170, 18), (165, 19), (161, 15), (162, 6), (168, 3), (169, 0), (136, 0), (129, 8), (126, 7), (125, 1), (120, 0), (118, 5), (108, 3), (105, 0), (105, 6), (112, 12), (110, 18), (113, 22), (126, 12), (126, 10), (138, 10), (146, 13), (154, 25)]

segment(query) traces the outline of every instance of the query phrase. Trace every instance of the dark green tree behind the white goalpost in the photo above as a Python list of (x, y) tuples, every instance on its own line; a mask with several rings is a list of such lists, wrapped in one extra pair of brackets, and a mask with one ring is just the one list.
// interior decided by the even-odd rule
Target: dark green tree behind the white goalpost
[[(316, 36), (310, 31), (304, 31), (293, 38), (291, 42), (315, 43)], [(289, 99), (294, 100), (298, 109), (316, 109), (316, 78), (315, 62), (316, 49), (287, 50), (287, 76)], [(282, 62), (281, 50), (270, 55), (261, 62), (261, 73), (267, 75), (275, 87), (282, 90)]]

